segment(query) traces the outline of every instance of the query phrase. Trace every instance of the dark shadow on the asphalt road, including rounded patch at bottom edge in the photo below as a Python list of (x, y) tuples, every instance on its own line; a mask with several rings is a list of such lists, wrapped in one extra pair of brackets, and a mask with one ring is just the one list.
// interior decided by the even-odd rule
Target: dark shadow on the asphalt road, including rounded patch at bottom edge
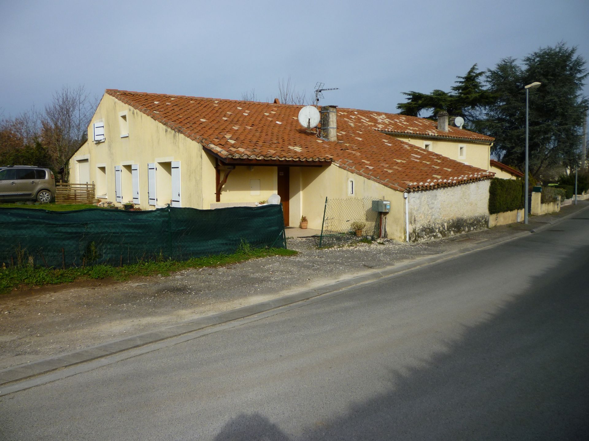
[[(300, 439), (587, 439), (587, 250), (484, 323), (466, 328), (424, 368), (391, 371), (393, 389), (318, 421)], [(498, 277), (498, 286), (501, 278)], [(291, 440), (262, 415), (231, 419), (216, 441)], [(299, 439), (299, 438), (297, 438)]]

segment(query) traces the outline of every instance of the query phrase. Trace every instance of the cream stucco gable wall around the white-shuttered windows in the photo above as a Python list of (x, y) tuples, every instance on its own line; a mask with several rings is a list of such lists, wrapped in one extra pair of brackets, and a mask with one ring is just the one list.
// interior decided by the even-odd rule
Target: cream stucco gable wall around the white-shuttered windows
[[(121, 137), (121, 116), (127, 116), (128, 136)], [(95, 143), (93, 123), (104, 122), (105, 141)], [(155, 162), (158, 168), (157, 205), (170, 203), (170, 162), (180, 161), (181, 205), (202, 208), (202, 148), (184, 135), (154, 121), (147, 115), (125, 105), (110, 95), (102, 96), (92, 121), (88, 126), (88, 142), (70, 159), (70, 182), (79, 182), (80, 158), (89, 157), (90, 181), (102, 186), (104, 178), (97, 173), (99, 166), (106, 171), (104, 201), (115, 202), (114, 167), (121, 166), (123, 203), (131, 198), (131, 165), (139, 166), (139, 198), (141, 209), (153, 209), (148, 205), (147, 164)], [(214, 186), (214, 175), (213, 175)], [(98, 190), (98, 188), (97, 188)], [(97, 192), (97, 196), (100, 192)], [(102, 195), (100, 195), (102, 196)], [(161, 197), (160, 197), (161, 196)], [(120, 205), (120, 204), (119, 204)], [(207, 207), (208, 208), (208, 207)]]

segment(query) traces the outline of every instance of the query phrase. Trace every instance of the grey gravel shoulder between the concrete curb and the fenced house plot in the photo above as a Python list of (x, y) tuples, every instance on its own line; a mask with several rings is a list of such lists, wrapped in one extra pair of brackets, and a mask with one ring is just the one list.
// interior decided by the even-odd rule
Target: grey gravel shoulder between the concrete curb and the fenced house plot
[(88, 280), (15, 290), (0, 296), (0, 369), (80, 350), (329, 285), (427, 256), (508, 239), (589, 206), (425, 243), (391, 240), (316, 249), (312, 238), (287, 240), (292, 257), (274, 256), (216, 268), (125, 282)]

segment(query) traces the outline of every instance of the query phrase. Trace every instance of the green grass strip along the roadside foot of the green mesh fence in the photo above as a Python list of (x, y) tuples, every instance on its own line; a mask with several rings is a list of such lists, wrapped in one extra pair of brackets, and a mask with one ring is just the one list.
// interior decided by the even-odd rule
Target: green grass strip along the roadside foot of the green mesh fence
[(19, 286), (56, 285), (57, 283), (71, 283), (75, 280), (105, 279), (127, 280), (132, 276), (153, 276), (170, 273), (188, 268), (203, 268), (205, 266), (223, 266), (231, 263), (244, 262), (269, 256), (293, 256), (295, 250), (284, 248), (251, 248), (248, 243), (241, 243), (233, 254), (192, 258), (189, 260), (164, 260), (162, 262), (138, 262), (131, 265), (110, 266), (95, 265), (87, 268), (8, 268), (0, 269), (0, 294), (10, 292)]

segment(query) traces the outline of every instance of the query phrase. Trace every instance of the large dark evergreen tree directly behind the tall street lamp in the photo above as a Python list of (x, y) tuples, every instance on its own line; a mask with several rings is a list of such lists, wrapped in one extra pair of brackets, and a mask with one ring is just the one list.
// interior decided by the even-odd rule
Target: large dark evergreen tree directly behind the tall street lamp
[(538, 81), (540, 88), (530, 91), (530, 173), (540, 176), (551, 166), (577, 163), (589, 103), (581, 94), (588, 75), (585, 60), (576, 51), (561, 42), (526, 56), (522, 66), (505, 58), (489, 69), (486, 79), (495, 102), (487, 106), (481, 128), (495, 137), (494, 153), (502, 162), (524, 168), (524, 86)]

